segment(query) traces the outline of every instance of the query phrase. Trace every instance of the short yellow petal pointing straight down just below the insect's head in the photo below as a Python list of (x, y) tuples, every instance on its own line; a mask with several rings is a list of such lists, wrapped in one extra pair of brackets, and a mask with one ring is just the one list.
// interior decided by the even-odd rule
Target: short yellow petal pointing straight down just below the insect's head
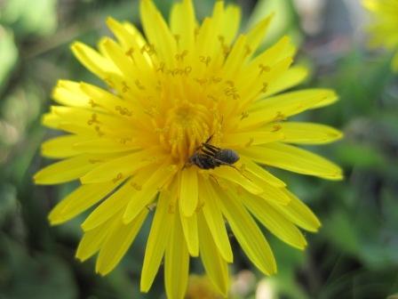
[(181, 172), (179, 185), (179, 205), (181, 213), (190, 217), (195, 213), (198, 198), (197, 171), (194, 167), (185, 168)]

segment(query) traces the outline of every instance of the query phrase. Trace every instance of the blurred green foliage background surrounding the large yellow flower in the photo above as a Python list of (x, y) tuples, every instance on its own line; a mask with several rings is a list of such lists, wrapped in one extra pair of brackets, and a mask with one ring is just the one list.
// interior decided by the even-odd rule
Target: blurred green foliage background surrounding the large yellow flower
[[(168, 15), (172, 1), (155, 1)], [(197, 16), (213, 0), (195, 1)], [(267, 234), (279, 266), (272, 278), (235, 246), (230, 298), (398, 298), (398, 76), (391, 53), (366, 50), (366, 12), (358, 0), (229, 1), (243, 7), (243, 29), (268, 12), (272, 43), (293, 36), (297, 63), (311, 69), (302, 86), (337, 90), (341, 101), (299, 116), (341, 128), (346, 138), (314, 148), (344, 167), (344, 182), (275, 171), (322, 220), (302, 253)], [(0, 299), (164, 298), (163, 271), (147, 295), (139, 271), (149, 223), (105, 278), (94, 260), (76, 261), (80, 220), (51, 228), (46, 215), (74, 184), (42, 187), (32, 174), (49, 163), (41, 141), (58, 133), (40, 124), (59, 78), (98, 83), (69, 45), (110, 35), (105, 18), (139, 24), (137, 0), (0, 0)], [(197, 261), (187, 298), (218, 298)]]

